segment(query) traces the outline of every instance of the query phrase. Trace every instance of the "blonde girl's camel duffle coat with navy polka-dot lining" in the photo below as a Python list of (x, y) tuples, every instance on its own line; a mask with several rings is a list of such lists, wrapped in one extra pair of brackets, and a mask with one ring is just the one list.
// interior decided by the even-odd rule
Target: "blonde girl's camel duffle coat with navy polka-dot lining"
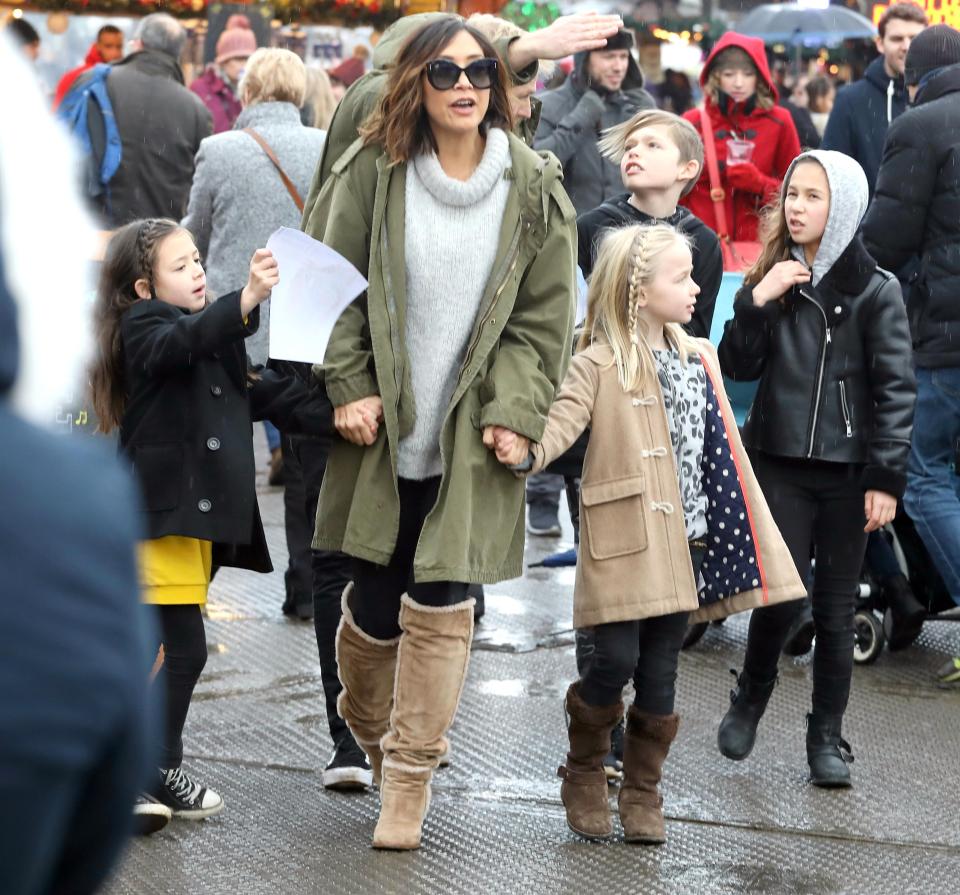
[(716, 350), (696, 341), (707, 374), (703, 486), (710, 498), (699, 593), (656, 376), (640, 393), (625, 392), (612, 350), (590, 346), (574, 357), (533, 447), (537, 472), (591, 427), (580, 484), (576, 628), (684, 611), (691, 622), (708, 621), (806, 595), (740, 441)]

